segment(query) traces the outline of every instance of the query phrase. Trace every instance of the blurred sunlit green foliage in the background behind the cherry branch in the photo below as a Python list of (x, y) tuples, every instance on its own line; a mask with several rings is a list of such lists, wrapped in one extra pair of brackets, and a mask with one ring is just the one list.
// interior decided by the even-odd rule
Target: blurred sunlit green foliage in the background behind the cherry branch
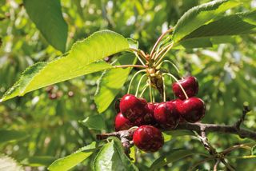
[[(210, 1), (61, 0), (63, 17), (69, 27), (67, 49), (94, 31), (109, 29), (138, 40), (139, 48), (149, 52), (162, 30), (174, 26), (186, 10), (203, 2)], [(242, 6), (227, 13), (252, 10), (256, 6), (255, 0), (243, 2)], [(30, 21), (21, 0), (0, 1), (0, 38), (0, 96), (18, 80), (27, 66), (50, 61), (61, 54), (46, 42)], [(255, 43), (255, 35), (245, 35), (230, 38), (229, 44), (214, 48), (172, 50), (167, 55), (166, 58), (175, 62), (183, 75), (192, 74), (198, 78), (198, 97), (206, 102), (207, 109), (202, 122), (232, 125), (242, 114), (242, 105), (246, 103), (253, 110), (247, 115), (243, 126), (256, 130)], [(175, 74), (170, 66), (165, 65)], [(100, 75), (75, 78), (1, 103), (0, 129), (10, 129), (10, 133), (5, 135), (6, 140), (1, 139), (0, 134), (0, 152), (27, 165), (27, 170), (45, 170), (56, 158), (95, 141), (96, 133), (112, 132), (116, 115), (114, 103), (102, 113), (104, 130), (90, 129), (81, 123), (86, 117), (98, 114), (94, 93)], [(136, 86), (132, 86), (133, 93)], [(166, 87), (168, 96), (173, 98), (170, 80), (166, 82)], [(126, 90), (127, 85), (117, 98), (122, 97)], [(147, 93), (145, 97), (148, 97)], [(161, 101), (160, 97), (157, 101)], [(13, 134), (20, 138), (12, 141)], [(218, 150), (250, 142), (238, 136), (217, 133), (210, 133), (209, 139)], [(156, 158), (163, 153), (171, 153), (173, 149), (204, 152), (200, 141), (194, 137), (171, 137), (160, 152), (139, 153), (136, 164), (144, 170)], [(243, 149), (233, 154), (242, 156), (248, 153)], [(94, 155), (75, 170), (90, 170), (93, 159)], [(186, 157), (166, 165), (162, 170), (186, 170), (200, 159), (196, 155)], [(231, 164), (238, 170), (253, 170), (253, 160), (231, 160)], [(199, 169), (210, 169), (213, 164), (206, 162)]]

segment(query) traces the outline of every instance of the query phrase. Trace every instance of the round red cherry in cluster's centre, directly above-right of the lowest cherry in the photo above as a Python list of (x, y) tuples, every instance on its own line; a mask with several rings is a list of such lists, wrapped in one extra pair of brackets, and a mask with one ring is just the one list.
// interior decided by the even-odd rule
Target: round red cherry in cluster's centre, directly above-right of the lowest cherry
[(178, 125), (179, 114), (172, 102), (162, 102), (154, 109), (154, 119), (162, 128), (174, 129)]

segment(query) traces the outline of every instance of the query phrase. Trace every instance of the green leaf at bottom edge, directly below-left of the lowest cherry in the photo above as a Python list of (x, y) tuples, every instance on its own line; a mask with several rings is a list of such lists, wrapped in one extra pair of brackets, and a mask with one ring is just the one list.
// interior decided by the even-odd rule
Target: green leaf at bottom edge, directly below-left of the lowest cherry
[(94, 170), (138, 170), (126, 157), (119, 140), (111, 140), (104, 145), (94, 160)]

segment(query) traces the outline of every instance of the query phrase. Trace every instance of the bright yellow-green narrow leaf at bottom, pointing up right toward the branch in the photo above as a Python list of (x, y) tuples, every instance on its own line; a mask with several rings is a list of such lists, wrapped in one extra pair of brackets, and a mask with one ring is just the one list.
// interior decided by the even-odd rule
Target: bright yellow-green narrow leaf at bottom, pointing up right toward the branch
[(84, 161), (86, 158), (90, 157), (90, 155), (94, 152), (95, 149), (96, 142), (93, 142), (90, 145), (86, 145), (85, 147), (78, 149), (78, 151), (70, 154), (69, 156), (54, 161), (54, 163), (52, 163), (48, 169), (54, 171), (69, 170), (73, 168), (75, 165), (78, 165), (78, 163)]

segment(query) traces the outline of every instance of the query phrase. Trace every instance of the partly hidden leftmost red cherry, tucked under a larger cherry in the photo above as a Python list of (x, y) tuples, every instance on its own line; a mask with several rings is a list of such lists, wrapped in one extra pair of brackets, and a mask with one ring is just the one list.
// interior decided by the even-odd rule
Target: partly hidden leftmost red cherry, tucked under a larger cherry
[(115, 131), (130, 129), (133, 126), (134, 124), (131, 121), (129, 121), (126, 117), (124, 117), (122, 113), (118, 113), (114, 119)]

